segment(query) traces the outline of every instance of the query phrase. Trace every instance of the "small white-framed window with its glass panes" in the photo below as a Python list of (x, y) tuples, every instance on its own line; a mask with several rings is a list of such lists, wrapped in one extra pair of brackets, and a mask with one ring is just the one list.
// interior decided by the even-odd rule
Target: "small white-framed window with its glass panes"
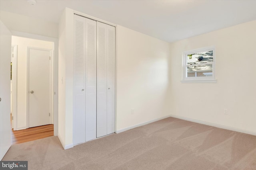
[(182, 57), (182, 82), (216, 82), (214, 47), (185, 51)]

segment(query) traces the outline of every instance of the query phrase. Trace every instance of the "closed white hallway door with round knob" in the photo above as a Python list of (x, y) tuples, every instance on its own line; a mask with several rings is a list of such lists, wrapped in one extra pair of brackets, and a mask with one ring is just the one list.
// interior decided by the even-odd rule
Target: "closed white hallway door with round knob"
[(29, 127), (50, 124), (50, 51), (28, 49)]

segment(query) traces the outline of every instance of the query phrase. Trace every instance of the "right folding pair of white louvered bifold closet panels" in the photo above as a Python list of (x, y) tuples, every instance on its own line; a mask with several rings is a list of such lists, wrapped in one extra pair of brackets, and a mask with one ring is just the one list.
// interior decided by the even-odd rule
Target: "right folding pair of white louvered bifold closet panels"
[(97, 137), (115, 127), (115, 27), (97, 21)]

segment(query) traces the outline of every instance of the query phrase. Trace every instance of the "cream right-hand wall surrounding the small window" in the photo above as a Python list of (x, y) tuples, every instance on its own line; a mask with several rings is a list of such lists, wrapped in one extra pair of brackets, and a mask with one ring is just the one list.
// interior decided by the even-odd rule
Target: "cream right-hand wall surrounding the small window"
[[(210, 45), (217, 83), (181, 83), (182, 52)], [(256, 21), (174, 42), (170, 51), (173, 115), (256, 133)]]

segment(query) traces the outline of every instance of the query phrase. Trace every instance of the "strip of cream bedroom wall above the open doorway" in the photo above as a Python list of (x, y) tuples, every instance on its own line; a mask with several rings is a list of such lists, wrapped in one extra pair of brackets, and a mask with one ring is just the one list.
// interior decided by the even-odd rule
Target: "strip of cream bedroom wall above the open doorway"
[(58, 38), (58, 23), (40, 20), (14, 14), (6, 11), (0, 11), (0, 20), (11, 31), (19, 31), (36, 35)]

